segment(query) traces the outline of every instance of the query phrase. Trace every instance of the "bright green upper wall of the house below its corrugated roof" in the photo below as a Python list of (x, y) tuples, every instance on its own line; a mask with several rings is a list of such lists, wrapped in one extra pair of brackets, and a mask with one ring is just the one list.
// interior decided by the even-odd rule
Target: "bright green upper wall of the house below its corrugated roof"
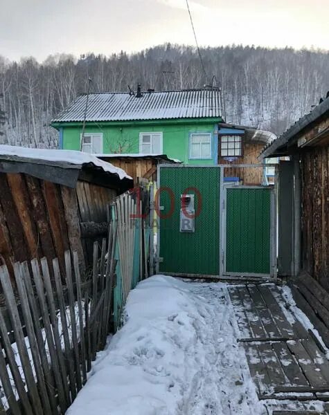
[[(217, 119), (184, 120), (184, 122), (134, 122), (116, 123), (87, 123), (86, 133), (103, 133), (103, 153), (139, 153), (139, 133), (162, 132), (163, 154), (178, 158), (189, 164), (217, 164)], [(57, 127), (60, 127), (58, 125)], [(81, 124), (62, 125), (62, 145), (64, 149), (80, 150)], [(189, 159), (190, 133), (212, 133), (212, 158), (208, 160)]]

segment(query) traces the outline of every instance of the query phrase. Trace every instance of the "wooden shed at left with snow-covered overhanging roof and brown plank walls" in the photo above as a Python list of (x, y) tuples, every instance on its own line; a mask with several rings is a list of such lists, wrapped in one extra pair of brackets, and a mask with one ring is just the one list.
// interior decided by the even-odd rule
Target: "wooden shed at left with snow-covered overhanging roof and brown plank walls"
[[(132, 187), (122, 169), (80, 151), (0, 146), (0, 264), (78, 252), (91, 264), (108, 206)], [(64, 267), (64, 264), (60, 264)]]

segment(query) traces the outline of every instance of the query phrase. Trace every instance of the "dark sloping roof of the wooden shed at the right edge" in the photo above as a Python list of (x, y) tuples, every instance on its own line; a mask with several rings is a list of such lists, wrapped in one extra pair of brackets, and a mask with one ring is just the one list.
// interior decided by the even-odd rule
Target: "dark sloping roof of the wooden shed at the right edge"
[(294, 140), (299, 133), (304, 129), (309, 127), (313, 122), (319, 118), (329, 115), (329, 94), (327, 93), (327, 98), (322, 100), (317, 107), (314, 107), (312, 111), (305, 116), (299, 118), (292, 126), (287, 129), (279, 138), (272, 141), (265, 147), (261, 156), (269, 157), (275, 155), (283, 154), (283, 147), (288, 145), (288, 143)]

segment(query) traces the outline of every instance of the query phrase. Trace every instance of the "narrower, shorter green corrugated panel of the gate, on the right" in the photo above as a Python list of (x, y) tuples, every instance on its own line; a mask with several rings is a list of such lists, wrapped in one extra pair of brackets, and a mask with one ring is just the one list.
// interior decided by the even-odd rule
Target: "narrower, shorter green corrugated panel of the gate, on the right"
[(226, 272), (270, 273), (271, 191), (226, 190)]

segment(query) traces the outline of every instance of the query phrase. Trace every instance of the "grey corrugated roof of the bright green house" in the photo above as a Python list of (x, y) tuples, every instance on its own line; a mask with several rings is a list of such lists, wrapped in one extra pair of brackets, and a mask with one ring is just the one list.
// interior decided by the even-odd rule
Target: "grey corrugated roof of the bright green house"
[[(87, 95), (80, 95), (52, 122), (82, 122)], [(220, 117), (220, 92), (209, 89), (89, 94), (87, 121), (164, 120)]]

